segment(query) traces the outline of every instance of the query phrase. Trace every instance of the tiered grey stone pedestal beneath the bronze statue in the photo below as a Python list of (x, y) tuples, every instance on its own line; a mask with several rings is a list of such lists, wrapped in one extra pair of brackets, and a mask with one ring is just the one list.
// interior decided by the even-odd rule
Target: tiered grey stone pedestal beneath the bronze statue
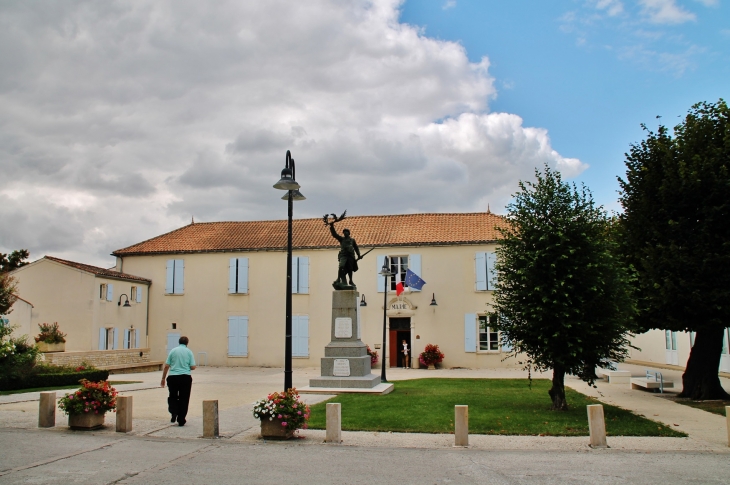
[(357, 337), (358, 296), (355, 290), (332, 292), (330, 343), (324, 348), (321, 376), (310, 379), (310, 387), (372, 389), (380, 384), (380, 376), (370, 371), (367, 346)]

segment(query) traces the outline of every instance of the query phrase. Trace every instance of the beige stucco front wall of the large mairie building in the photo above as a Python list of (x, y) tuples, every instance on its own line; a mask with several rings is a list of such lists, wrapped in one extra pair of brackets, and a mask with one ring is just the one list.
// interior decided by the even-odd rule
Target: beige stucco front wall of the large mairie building
[[(360, 261), (354, 280), (368, 306), (361, 308), (362, 340), (375, 348), (382, 341), (383, 293), (377, 292), (378, 255), (421, 255), (420, 276), (424, 291), (406, 294), (416, 307), (412, 312), (390, 316), (411, 317), (414, 354), (427, 343), (438, 344), (445, 353), (445, 367), (504, 367), (502, 353), (464, 351), (464, 314), (484, 313), (492, 292), (475, 291), (475, 261), (478, 251), (493, 251), (494, 245), (411, 247), (378, 249)], [(295, 315), (309, 315), (309, 357), (294, 358), (295, 367), (318, 367), (324, 346), (330, 340), (332, 281), (337, 275), (336, 250), (295, 251), (308, 256), (310, 293), (294, 294)], [(231, 257), (249, 258), (249, 293), (228, 294), (228, 265)], [(184, 294), (166, 295), (168, 259), (185, 261)], [(118, 262), (126, 273), (151, 279), (149, 347), (153, 360), (166, 357), (167, 334), (190, 338), (190, 348), (206, 352), (209, 365), (282, 366), (284, 361), (286, 253), (194, 253), (178, 255), (127, 256)], [(380, 277), (382, 278), (382, 277)], [(429, 306), (435, 293), (437, 307)], [(389, 300), (395, 297), (389, 293)], [(247, 357), (228, 357), (228, 317), (249, 317)], [(176, 330), (172, 324), (176, 324)], [(420, 338), (416, 338), (416, 336)], [(382, 355), (382, 352), (379, 352)]]

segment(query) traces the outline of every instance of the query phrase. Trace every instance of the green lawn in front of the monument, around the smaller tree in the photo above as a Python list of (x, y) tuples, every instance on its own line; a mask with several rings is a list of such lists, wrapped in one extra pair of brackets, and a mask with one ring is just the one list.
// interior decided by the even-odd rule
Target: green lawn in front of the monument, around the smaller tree
[[(340, 394), (312, 406), (309, 427), (325, 428), (327, 402), (342, 404), (342, 429), (453, 433), (454, 405), (469, 406), (469, 433), (587, 436), (586, 405), (599, 401), (566, 388), (569, 411), (550, 411), (550, 381), (525, 379), (414, 379), (397, 381), (385, 396)], [(687, 436), (662, 423), (603, 404), (609, 436)]]

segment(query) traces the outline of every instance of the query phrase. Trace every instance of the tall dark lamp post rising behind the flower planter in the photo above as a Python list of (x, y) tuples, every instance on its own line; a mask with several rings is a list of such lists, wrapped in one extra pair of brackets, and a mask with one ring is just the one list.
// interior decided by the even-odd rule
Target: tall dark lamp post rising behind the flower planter
[(286, 328), (285, 328), (285, 344), (284, 344), (284, 392), (291, 389), (292, 369), (291, 369), (291, 241), (292, 241), (292, 215), (294, 213), (294, 200), (304, 200), (305, 197), (299, 193), (299, 184), (296, 181), (296, 169), (294, 168), (294, 159), (291, 152), (286, 151), (286, 164), (284, 170), (281, 171), (281, 179), (274, 184), (275, 189), (286, 190), (287, 195), (282, 199), (287, 200), (289, 217), (287, 220), (287, 240), (286, 240)]

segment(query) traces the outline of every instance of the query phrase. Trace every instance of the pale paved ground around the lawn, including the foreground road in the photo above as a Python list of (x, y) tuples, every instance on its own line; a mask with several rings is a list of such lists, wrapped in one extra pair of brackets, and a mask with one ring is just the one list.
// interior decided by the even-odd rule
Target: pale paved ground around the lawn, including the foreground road
[[(644, 371), (621, 368), (635, 375)], [(681, 386), (679, 372), (663, 372)], [(317, 375), (319, 369), (295, 369), (294, 385), (304, 387)], [(259, 438), (251, 404), (283, 385), (282, 369), (200, 367), (193, 377), (188, 423), (178, 427), (169, 422), (159, 372), (111, 376), (141, 381), (117, 386), (122, 395), (134, 397), (134, 429), (128, 434), (114, 431), (113, 414), (94, 432), (70, 431), (60, 412), (55, 428), (38, 429), (38, 393), (0, 396), (5, 445), (0, 483), (272, 483), (287, 477), (297, 483), (372, 483), (380, 474), (384, 483), (727, 483), (730, 477), (725, 418), (628, 385), (599, 382), (590, 388), (566, 379), (580, 392), (689, 436), (609, 436), (608, 450), (589, 448), (588, 437), (471, 435), (469, 449), (455, 449), (453, 435), (347, 431), (338, 446), (325, 444), (321, 430), (270, 442)], [(424, 377), (521, 378), (525, 373), (388, 370), (392, 381)], [(728, 379), (722, 381), (730, 388)], [(63, 392), (68, 391), (58, 396)], [(303, 397), (312, 404), (331, 396)], [(204, 399), (219, 401), (219, 439), (202, 438)]]

